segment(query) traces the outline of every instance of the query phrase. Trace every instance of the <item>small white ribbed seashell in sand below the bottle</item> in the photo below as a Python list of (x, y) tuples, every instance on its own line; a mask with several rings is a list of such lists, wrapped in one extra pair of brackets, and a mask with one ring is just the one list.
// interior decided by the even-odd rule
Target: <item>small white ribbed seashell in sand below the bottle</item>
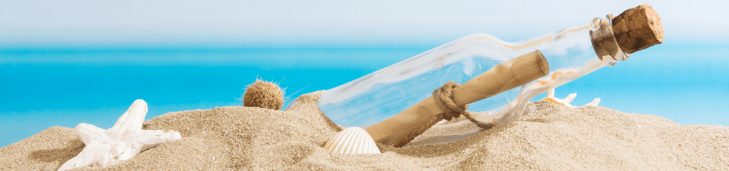
[(367, 131), (359, 127), (348, 127), (334, 135), (324, 146), (328, 151), (338, 154), (380, 154), (380, 148), (375, 145)]

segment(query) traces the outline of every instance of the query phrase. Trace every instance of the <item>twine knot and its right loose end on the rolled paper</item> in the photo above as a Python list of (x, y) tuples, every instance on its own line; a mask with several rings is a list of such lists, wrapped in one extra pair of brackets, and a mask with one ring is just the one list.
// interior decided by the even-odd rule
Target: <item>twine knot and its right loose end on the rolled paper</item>
[(451, 119), (453, 118), (464, 115), (466, 116), (466, 119), (468, 119), (470, 122), (473, 122), (478, 127), (486, 130), (491, 129), (491, 127), (499, 124), (499, 122), (496, 122), (496, 119), (494, 119), (493, 123), (478, 122), (475, 118), (473, 118), (471, 112), (467, 110), (468, 105), (456, 105), (456, 102), (453, 101), (453, 89), (459, 86), (460, 85), (454, 81), (448, 81), (443, 84), (443, 86), (439, 87), (436, 90), (433, 90), (433, 98), (435, 99), (435, 103), (437, 103), (438, 106), (440, 106), (440, 108), (445, 111), (443, 119), (451, 121)]

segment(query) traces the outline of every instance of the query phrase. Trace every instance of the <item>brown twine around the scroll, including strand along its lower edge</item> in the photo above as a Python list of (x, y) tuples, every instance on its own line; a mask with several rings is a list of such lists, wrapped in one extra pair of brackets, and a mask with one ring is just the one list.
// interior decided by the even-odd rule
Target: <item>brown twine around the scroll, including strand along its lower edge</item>
[(456, 103), (453, 102), (453, 89), (456, 87), (459, 87), (458, 83), (454, 81), (448, 81), (443, 84), (443, 86), (438, 87), (436, 90), (433, 90), (433, 98), (435, 99), (435, 103), (437, 103), (440, 108), (443, 108), (443, 111), (445, 111), (445, 113), (433, 116), (428, 122), (422, 124), (416, 130), (413, 130), (413, 132), (410, 132), (408, 135), (405, 136), (405, 138), (402, 138), (397, 141), (397, 143), (393, 144), (393, 146), (397, 148), (405, 146), (406, 144), (410, 143), (410, 141), (418, 137), (418, 135), (423, 134), (425, 130), (428, 130), (430, 127), (433, 127), (434, 124), (440, 122), (440, 120), (445, 119), (446, 121), (451, 121), (451, 119), (458, 118), (461, 115), (466, 116), (466, 119), (468, 119), (470, 122), (473, 122), (474, 124), (476, 124), (476, 126), (486, 130), (491, 129), (492, 127), (496, 127), (496, 125), (499, 124), (499, 122), (496, 122), (496, 119), (494, 119), (492, 123), (479, 122), (475, 118), (473, 118), (471, 112), (467, 110), (468, 105), (456, 105)]

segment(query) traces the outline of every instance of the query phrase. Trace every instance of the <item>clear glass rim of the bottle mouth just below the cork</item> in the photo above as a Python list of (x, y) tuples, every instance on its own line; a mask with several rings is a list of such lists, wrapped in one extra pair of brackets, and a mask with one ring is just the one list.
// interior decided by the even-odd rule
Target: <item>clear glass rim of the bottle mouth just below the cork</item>
[(615, 65), (617, 61), (627, 60), (630, 54), (623, 52), (617, 45), (615, 34), (612, 32), (612, 19), (615, 15), (596, 17), (590, 23), (590, 40), (599, 60), (605, 65)]

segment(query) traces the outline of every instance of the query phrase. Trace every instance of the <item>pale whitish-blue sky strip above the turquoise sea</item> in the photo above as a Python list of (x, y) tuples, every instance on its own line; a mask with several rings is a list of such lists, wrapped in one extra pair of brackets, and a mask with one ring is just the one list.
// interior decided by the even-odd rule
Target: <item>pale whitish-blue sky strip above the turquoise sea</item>
[(727, 1), (0, 1), (0, 47), (252, 47), (518, 41), (658, 11), (666, 41), (727, 42)]

